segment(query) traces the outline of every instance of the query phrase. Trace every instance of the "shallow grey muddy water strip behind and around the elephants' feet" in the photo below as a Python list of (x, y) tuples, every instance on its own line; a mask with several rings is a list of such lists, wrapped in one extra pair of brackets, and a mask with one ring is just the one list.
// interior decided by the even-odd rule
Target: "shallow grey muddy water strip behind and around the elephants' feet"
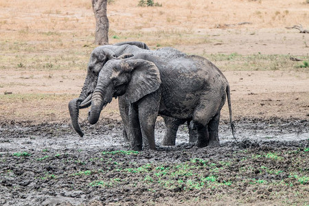
[[(109, 122), (109, 124), (108, 124)], [(300, 141), (309, 138), (308, 121), (299, 119), (242, 119), (236, 123), (238, 141)], [(128, 150), (128, 143), (122, 138), (121, 122), (102, 120), (95, 126), (83, 124), (84, 137), (79, 137), (69, 125), (41, 124), (38, 126), (6, 125), (0, 128), (0, 142), (3, 150), (42, 150), (58, 149), (111, 149)], [(163, 122), (158, 122), (155, 137), (158, 147), (165, 134)], [(225, 145), (235, 141), (228, 122), (221, 122), (219, 127), (220, 143)], [(176, 146), (187, 144), (189, 135), (187, 126), (180, 126)]]

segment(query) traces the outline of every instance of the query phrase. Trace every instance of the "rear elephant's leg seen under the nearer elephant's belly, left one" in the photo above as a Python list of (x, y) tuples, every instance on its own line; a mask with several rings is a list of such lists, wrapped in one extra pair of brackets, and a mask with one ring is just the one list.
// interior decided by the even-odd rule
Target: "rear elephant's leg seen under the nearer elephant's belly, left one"
[(175, 119), (173, 117), (163, 116), (166, 132), (162, 140), (163, 146), (174, 146), (176, 143), (176, 135), (179, 125), (183, 124), (185, 120)]

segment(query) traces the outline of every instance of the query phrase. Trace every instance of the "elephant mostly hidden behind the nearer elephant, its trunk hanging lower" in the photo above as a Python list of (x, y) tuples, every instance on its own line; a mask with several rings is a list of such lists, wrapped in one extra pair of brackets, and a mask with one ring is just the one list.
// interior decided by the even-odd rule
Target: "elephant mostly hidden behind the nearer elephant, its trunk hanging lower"
[[(80, 108), (87, 108), (91, 105), (92, 93), (97, 85), (98, 76), (108, 60), (115, 59), (120, 56), (120, 58), (127, 58), (126, 54), (138, 54), (139, 52), (144, 52), (144, 49), (149, 50), (145, 43), (138, 41), (133, 42), (123, 42), (117, 43), (115, 45), (104, 45), (97, 47), (91, 53), (91, 57), (88, 63), (87, 77), (84, 81), (84, 87), (80, 93), (80, 97), (73, 99), (69, 102), (69, 113), (71, 116), (71, 122), (73, 128), (76, 130), (78, 135), (82, 137), (84, 133), (82, 132), (80, 125), (78, 124), (78, 114)], [(168, 58), (177, 58), (174, 54), (162, 50), (155, 52), (160, 56), (165, 56)], [(128, 127), (128, 102), (125, 102), (123, 98), (119, 98), (119, 112), (122, 116), (124, 122), (124, 138), (128, 140), (127, 132)], [(178, 130), (179, 124), (183, 124), (185, 121), (181, 119), (174, 119), (172, 117), (163, 117), (165, 124), (167, 126), (167, 132), (163, 138), (163, 145), (175, 145), (176, 132)], [(189, 126), (189, 123), (188, 123)], [(190, 131), (190, 142), (196, 141), (194, 132), (192, 131), (192, 126), (189, 127)], [(146, 144), (147, 142), (144, 141)]]

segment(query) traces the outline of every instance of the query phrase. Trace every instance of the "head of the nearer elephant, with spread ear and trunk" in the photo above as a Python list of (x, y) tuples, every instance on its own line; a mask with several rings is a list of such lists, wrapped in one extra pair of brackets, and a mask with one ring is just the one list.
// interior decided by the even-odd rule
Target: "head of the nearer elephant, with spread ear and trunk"
[(153, 62), (133, 58), (106, 62), (91, 98), (89, 123), (98, 122), (102, 108), (113, 97), (124, 95), (126, 102), (134, 103), (159, 89), (160, 84), (159, 69)]

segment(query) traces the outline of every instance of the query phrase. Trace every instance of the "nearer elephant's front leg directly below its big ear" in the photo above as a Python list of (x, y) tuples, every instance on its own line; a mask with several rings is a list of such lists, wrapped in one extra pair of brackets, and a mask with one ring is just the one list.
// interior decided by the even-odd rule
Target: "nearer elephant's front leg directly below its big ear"
[(142, 141), (144, 147), (151, 150), (156, 149), (155, 123), (158, 117), (160, 99), (159, 93), (152, 93), (138, 102)]

